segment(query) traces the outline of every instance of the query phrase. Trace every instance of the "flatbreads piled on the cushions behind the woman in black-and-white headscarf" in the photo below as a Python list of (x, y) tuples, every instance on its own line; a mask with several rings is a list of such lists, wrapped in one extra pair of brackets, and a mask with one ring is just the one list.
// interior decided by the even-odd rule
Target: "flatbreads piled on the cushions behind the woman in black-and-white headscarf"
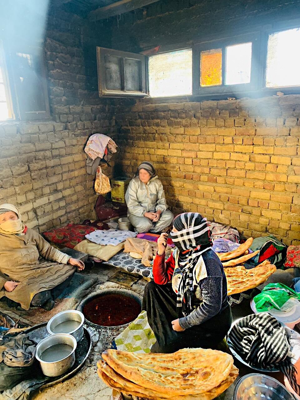
[(276, 271), (276, 266), (271, 264), (269, 260), (265, 260), (250, 270), (247, 270), (243, 266), (244, 262), (255, 257), (260, 251), (249, 252), (252, 242), (253, 238), (249, 238), (236, 250), (227, 253), (217, 253), (224, 267), (228, 296), (256, 288), (266, 282), (269, 276)]

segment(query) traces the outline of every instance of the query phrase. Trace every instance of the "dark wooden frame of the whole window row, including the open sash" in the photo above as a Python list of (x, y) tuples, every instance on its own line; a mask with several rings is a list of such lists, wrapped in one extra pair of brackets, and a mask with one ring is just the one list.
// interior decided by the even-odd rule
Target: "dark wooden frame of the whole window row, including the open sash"
[[(300, 28), (300, 19), (295, 18), (294, 20), (284, 20), (278, 22), (267, 23), (264, 26), (258, 26), (257, 24), (253, 28), (247, 28), (245, 32), (240, 32), (236, 36), (226, 35), (225, 38), (218, 39), (217, 35), (214, 35), (213, 39), (205, 38), (204, 40), (198, 41), (187, 41), (185, 43), (177, 42), (174, 44), (161, 45), (159, 50), (152, 55), (180, 51), (188, 48), (192, 48), (192, 94), (186, 95), (173, 95), (173, 96), (149, 96), (149, 84), (148, 84), (148, 56), (143, 54), (134, 54), (119, 52), (118, 50), (106, 49), (113, 54), (122, 53), (129, 54), (131, 57), (143, 56), (145, 57), (145, 87), (146, 92), (141, 93), (128, 93), (119, 92), (118, 94), (110, 94), (110, 91), (106, 91), (105, 94), (100, 94), (100, 80), (98, 71), (98, 85), (99, 85), (99, 96), (103, 97), (148, 97), (158, 102), (170, 101), (193, 101), (197, 99), (203, 100), (222, 100), (228, 97), (263, 97), (276, 95), (281, 90), (284, 94), (300, 94), (300, 85), (298, 86), (281, 86), (281, 87), (266, 87), (266, 63), (268, 54), (268, 38), (270, 34), (276, 32), (282, 32), (284, 30)], [(251, 52), (251, 74), (250, 82), (246, 84), (234, 84), (225, 85), (226, 76), (226, 47), (234, 46), (237, 44), (252, 42)], [(222, 85), (220, 86), (200, 86), (200, 52), (205, 50), (213, 50), (222, 48)], [(98, 66), (98, 62), (97, 62)]]

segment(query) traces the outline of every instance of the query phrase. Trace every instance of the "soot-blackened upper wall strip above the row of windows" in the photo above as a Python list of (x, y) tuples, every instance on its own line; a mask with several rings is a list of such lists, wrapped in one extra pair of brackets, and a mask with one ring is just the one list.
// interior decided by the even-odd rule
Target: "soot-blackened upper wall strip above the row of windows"
[(112, 48), (140, 52), (158, 45), (222, 39), (300, 18), (299, 0), (160, 0), (108, 20)]

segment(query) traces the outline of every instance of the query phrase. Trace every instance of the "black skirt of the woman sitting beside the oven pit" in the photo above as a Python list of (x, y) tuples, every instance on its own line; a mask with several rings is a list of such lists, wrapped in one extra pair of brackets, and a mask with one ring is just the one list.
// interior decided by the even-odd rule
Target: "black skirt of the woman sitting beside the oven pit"
[(151, 352), (174, 353), (182, 348), (196, 347), (215, 349), (232, 324), (229, 304), (220, 314), (202, 324), (176, 332), (171, 322), (182, 317), (177, 314), (176, 297), (171, 284), (158, 285), (152, 281), (145, 286), (142, 310), (147, 311), (149, 325), (156, 337)]

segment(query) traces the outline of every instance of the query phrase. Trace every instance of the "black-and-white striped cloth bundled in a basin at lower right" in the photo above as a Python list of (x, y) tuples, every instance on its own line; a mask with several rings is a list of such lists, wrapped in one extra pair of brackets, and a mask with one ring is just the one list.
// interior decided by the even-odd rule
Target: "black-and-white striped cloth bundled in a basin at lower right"
[(300, 394), (289, 339), (284, 326), (275, 317), (268, 312), (260, 312), (241, 318), (228, 338), (250, 366), (282, 371), (293, 390)]

